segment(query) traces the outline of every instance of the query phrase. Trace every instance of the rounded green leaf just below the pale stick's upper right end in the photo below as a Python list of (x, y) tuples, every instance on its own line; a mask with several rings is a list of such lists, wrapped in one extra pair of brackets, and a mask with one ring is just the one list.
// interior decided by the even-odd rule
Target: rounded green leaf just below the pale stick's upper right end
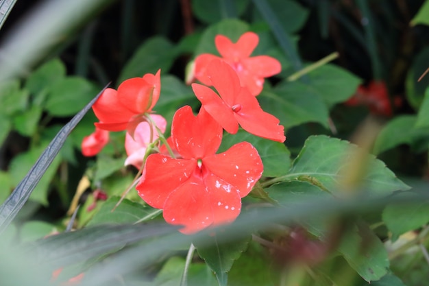
[(360, 79), (355, 75), (333, 64), (325, 64), (315, 69), (308, 73), (308, 77), (310, 88), (319, 94), (329, 107), (352, 97), (360, 84)]

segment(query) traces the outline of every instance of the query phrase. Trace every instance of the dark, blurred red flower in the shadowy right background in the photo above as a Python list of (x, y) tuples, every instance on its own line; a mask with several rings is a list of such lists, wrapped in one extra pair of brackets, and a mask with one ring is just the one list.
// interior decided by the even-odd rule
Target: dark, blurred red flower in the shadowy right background
[[(400, 97), (395, 97), (393, 100), (395, 106), (402, 104)], [(358, 86), (356, 93), (345, 104), (348, 106), (368, 106), (371, 113), (376, 115), (387, 117), (392, 115), (389, 92), (387, 91), (386, 84), (381, 81), (372, 81), (368, 86)]]

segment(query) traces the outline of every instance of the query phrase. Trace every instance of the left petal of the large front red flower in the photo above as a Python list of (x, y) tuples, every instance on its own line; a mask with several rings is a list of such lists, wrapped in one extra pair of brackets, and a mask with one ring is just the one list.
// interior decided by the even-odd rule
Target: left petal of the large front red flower
[(147, 157), (145, 174), (137, 184), (138, 195), (154, 208), (164, 208), (169, 195), (191, 176), (197, 160), (173, 159), (162, 154)]

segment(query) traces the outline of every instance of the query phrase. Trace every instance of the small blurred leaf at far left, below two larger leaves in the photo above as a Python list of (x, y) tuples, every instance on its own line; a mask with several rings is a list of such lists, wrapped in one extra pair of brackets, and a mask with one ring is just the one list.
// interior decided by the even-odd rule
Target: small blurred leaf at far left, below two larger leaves
[(41, 116), (42, 108), (33, 105), (28, 110), (20, 112), (13, 117), (14, 128), (21, 133), (21, 135), (31, 137), (36, 133)]

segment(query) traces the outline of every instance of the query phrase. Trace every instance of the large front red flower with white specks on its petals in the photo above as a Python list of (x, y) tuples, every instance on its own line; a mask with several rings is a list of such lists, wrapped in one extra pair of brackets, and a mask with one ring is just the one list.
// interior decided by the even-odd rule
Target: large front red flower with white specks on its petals
[(147, 204), (164, 210), (169, 224), (182, 233), (234, 221), (245, 197), (262, 175), (262, 160), (247, 142), (221, 154), (222, 128), (201, 108), (197, 117), (190, 106), (175, 112), (171, 137), (182, 158), (151, 154), (136, 189)]

